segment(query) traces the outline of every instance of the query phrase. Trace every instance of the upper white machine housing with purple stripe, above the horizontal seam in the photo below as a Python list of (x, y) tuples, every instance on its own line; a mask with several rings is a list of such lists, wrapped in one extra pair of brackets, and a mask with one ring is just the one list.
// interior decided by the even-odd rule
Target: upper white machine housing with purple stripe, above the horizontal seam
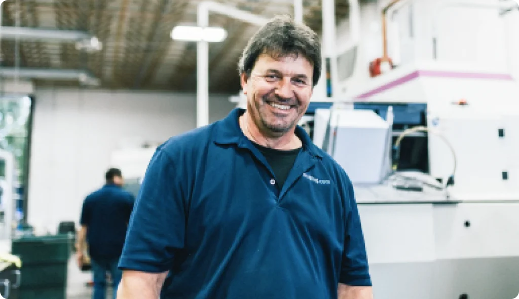
[(456, 156), (453, 197), (518, 199), (519, 113), (513, 112), (517, 82), (507, 74), (455, 70), (452, 65), (417, 67), (375, 78), (355, 101), (427, 103), (430, 174), (446, 179), (454, 166), (445, 141), (434, 134), (440, 133)]

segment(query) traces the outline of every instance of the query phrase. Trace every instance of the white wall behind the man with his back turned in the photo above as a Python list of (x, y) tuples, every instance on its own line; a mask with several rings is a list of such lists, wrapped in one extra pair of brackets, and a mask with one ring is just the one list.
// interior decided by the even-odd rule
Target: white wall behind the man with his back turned
[[(35, 98), (28, 221), (50, 232), (79, 220), (84, 197), (104, 183), (112, 151), (196, 126), (194, 93), (38, 88)], [(228, 96), (211, 96), (211, 121), (233, 107)]]

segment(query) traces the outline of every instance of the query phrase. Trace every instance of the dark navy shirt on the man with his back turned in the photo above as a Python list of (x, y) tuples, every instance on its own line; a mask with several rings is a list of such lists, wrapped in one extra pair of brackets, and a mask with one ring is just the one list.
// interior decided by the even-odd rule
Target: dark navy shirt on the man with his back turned
[(88, 253), (94, 260), (121, 255), (134, 197), (119, 186), (106, 184), (85, 198), (79, 223), (87, 226)]

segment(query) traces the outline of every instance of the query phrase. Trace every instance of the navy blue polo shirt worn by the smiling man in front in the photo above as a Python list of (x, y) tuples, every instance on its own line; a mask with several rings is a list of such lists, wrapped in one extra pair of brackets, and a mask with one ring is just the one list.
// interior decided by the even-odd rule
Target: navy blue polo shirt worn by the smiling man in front
[(243, 110), (153, 156), (119, 266), (169, 271), (162, 298), (324, 299), (371, 286), (348, 176), (298, 127), (283, 187), (238, 125)]

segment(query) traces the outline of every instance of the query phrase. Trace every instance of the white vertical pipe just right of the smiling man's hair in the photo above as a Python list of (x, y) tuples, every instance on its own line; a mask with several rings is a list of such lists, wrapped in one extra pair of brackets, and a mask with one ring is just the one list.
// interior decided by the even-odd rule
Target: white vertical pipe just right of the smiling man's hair
[[(335, 1), (322, 0), (323, 14), (323, 54), (325, 59), (330, 59), (330, 74), (332, 76), (332, 98), (335, 97), (337, 88), (337, 63), (336, 63), (336, 42), (335, 42)], [(326, 60), (324, 61), (326, 65)], [(325, 66), (326, 67), (326, 66)], [(326, 75), (326, 73), (324, 74)], [(326, 87), (327, 88), (327, 87)]]

